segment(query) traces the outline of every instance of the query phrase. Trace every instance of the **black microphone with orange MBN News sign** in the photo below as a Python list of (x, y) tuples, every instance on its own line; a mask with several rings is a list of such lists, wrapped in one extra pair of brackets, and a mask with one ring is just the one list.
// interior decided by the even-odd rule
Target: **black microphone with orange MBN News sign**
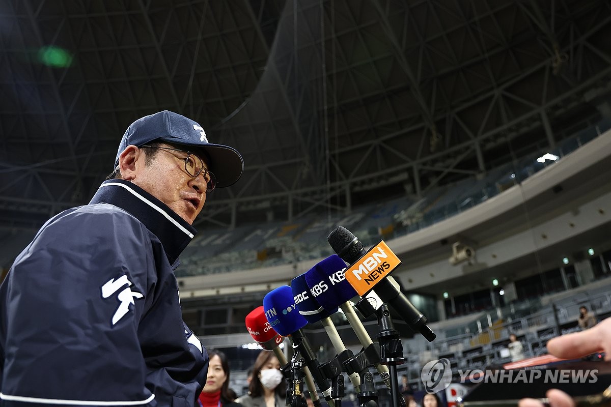
[(335, 228), (327, 240), (335, 253), (350, 264), (344, 275), (359, 295), (363, 296), (375, 287), (382, 301), (390, 303), (412, 330), (433, 342), (436, 334), (426, 325), (426, 317), (397, 288), (397, 282), (390, 276), (401, 261), (383, 240), (366, 251), (363, 243), (343, 226)]

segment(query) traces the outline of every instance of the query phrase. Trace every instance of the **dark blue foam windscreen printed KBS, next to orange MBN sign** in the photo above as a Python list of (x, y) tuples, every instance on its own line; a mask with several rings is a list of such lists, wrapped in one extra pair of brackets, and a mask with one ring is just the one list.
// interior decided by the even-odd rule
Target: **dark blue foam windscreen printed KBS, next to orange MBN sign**
[(318, 262), (305, 273), (305, 281), (312, 287), (312, 292), (316, 292), (316, 301), (324, 309), (337, 309), (357, 295), (344, 276), (345, 270), (346, 263), (334, 254)]

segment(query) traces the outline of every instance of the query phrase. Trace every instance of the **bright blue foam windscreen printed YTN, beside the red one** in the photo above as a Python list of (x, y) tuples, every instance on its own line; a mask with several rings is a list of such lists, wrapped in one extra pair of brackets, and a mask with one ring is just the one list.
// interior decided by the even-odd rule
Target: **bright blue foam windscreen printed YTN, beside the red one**
[(280, 286), (268, 292), (263, 297), (263, 311), (269, 325), (282, 336), (288, 336), (307, 325), (297, 311), (289, 286)]

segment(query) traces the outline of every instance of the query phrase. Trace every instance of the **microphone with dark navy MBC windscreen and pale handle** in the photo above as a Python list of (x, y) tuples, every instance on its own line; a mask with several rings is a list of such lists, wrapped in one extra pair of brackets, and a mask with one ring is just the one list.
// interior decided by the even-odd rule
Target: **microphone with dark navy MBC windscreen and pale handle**
[[(342, 261), (338, 258), (338, 260)], [(314, 266), (316, 267), (316, 265)], [(332, 309), (331, 311), (327, 311), (323, 307), (318, 304), (318, 301), (314, 298), (314, 292), (316, 289), (320, 289), (320, 287), (309, 287), (307, 282), (305, 281), (305, 274), (301, 274), (293, 278), (291, 281), (291, 290), (293, 292), (293, 300), (295, 300), (295, 304), (299, 309), (299, 314), (301, 314), (305, 320), (309, 323), (314, 322), (322, 322), (324, 326), (324, 330), (331, 339), (331, 344), (335, 349), (338, 357), (337, 360), (342, 364), (348, 359), (352, 358), (354, 354), (352, 351), (349, 351), (344, 345), (342, 338), (337, 333), (337, 329), (335, 328), (334, 323), (329, 318), (331, 315), (337, 312), (337, 307)], [(345, 367), (344, 367), (345, 369)], [(348, 378), (350, 379), (350, 383), (354, 386), (357, 391), (360, 386), (360, 377), (356, 372), (346, 372), (348, 374)]]

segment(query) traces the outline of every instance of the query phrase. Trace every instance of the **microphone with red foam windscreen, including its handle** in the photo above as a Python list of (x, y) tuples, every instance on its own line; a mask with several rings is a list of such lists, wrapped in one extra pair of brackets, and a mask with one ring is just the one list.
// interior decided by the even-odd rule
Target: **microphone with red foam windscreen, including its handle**
[[(287, 366), (287, 357), (284, 356), (284, 353), (282, 353), (282, 350), (278, 346), (284, 340), (284, 336), (280, 336), (274, 328), (271, 327), (268, 320), (265, 318), (265, 311), (262, 305), (253, 309), (246, 315), (246, 329), (257, 344), (261, 345), (265, 350), (273, 350), (280, 364), (282, 366)], [(307, 366), (304, 366), (303, 370), (305, 373), (305, 384), (310, 392), (312, 403), (316, 407), (320, 407), (320, 397), (318, 397), (312, 373), (310, 373), (310, 369), (308, 369)]]

